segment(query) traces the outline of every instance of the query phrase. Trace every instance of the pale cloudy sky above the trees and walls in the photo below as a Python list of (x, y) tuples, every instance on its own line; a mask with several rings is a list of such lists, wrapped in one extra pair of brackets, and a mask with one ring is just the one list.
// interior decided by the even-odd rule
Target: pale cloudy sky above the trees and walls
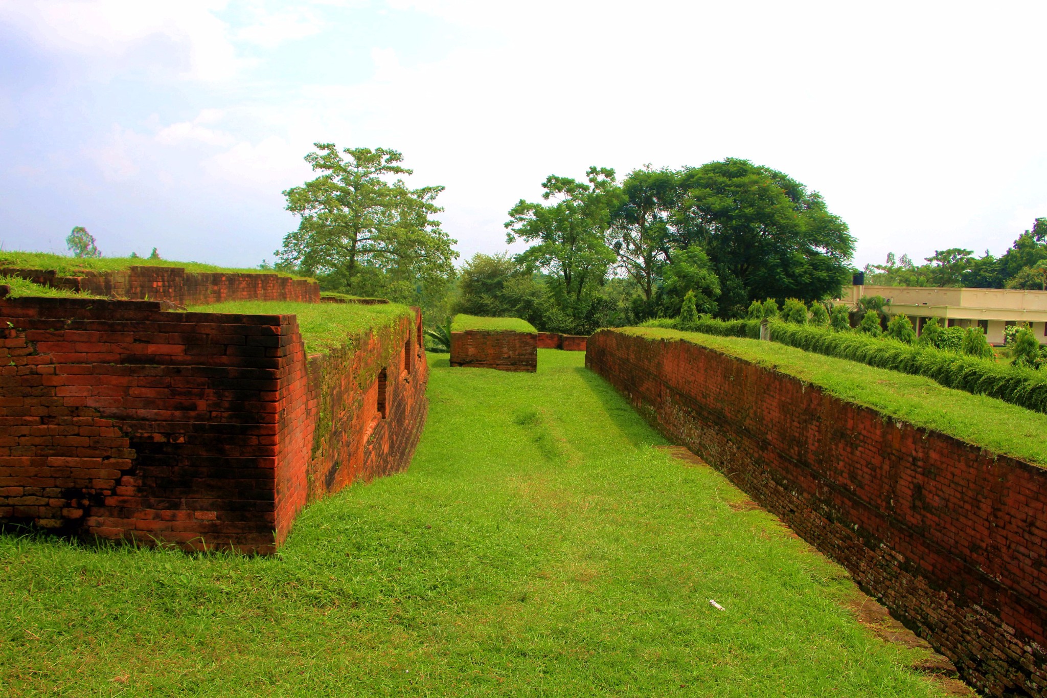
[(1047, 216), (1047, 2), (0, 0), (0, 242), (254, 266), (314, 141), (443, 184), (463, 258), (549, 174), (748, 158), (855, 266)]

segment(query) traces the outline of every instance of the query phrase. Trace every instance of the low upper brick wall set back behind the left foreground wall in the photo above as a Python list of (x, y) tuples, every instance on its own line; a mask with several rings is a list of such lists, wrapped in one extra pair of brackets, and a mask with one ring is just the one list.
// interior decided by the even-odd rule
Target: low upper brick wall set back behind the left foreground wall
[(130, 267), (119, 271), (87, 271), (82, 276), (59, 276), (42, 269), (0, 269), (0, 275), (21, 276), (43, 286), (99, 296), (168, 300), (180, 306), (226, 300), (317, 302), (320, 298), (319, 286), (312, 279), (264, 273), (188, 272), (182, 267)]

